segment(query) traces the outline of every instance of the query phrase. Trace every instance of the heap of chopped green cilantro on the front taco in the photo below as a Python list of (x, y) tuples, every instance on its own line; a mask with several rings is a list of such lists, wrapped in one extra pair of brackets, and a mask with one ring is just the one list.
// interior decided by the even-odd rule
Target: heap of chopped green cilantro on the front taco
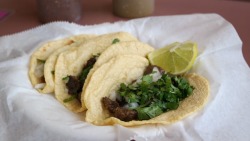
[(153, 82), (151, 75), (145, 75), (137, 84), (120, 84), (118, 94), (125, 103), (138, 103), (135, 109), (139, 120), (154, 118), (169, 110), (177, 109), (179, 102), (188, 97), (193, 87), (184, 77), (163, 74)]

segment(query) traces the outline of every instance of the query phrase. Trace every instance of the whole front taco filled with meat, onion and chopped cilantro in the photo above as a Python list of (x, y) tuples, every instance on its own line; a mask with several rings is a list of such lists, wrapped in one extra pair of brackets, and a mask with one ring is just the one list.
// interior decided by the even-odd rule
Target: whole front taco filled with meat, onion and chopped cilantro
[(144, 57), (117, 56), (92, 74), (84, 93), (85, 120), (95, 125), (170, 124), (201, 109), (208, 95), (208, 81), (197, 74), (174, 76)]

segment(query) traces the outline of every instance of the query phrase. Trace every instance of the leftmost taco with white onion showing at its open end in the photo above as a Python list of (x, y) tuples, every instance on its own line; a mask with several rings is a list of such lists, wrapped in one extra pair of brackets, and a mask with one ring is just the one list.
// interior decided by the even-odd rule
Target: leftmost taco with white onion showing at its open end
[[(92, 35), (77, 35), (68, 38), (63, 38), (59, 40), (49, 41), (44, 43), (40, 48), (38, 48), (31, 56), (30, 64), (29, 64), (29, 78), (30, 81), (39, 92), (42, 93), (50, 93), (53, 90), (46, 88), (43, 90), (45, 86), (45, 74), (44, 74), (44, 66), (45, 64), (53, 64), (52, 62), (48, 61), (47, 59), (59, 48), (64, 47), (74, 47), (77, 46), (79, 43), (92, 38)], [(53, 65), (52, 65), (53, 66)]]

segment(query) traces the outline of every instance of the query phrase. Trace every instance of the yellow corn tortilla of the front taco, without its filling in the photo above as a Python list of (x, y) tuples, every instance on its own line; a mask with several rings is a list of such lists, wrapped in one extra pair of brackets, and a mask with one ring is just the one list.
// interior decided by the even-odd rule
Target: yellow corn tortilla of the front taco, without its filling
[[(185, 77), (194, 86), (193, 93), (180, 102), (178, 109), (163, 113), (150, 120), (121, 121), (112, 117), (102, 106), (101, 99), (109, 97), (119, 89), (121, 83), (129, 84), (143, 75), (148, 60), (140, 56), (117, 56), (100, 66), (91, 76), (84, 94), (84, 103), (88, 109), (85, 120), (96, 125), (136, 126), (143, 124), (170, 124), (181, 120), (189, 114), (201, 109), (209, 96), (208, 81), (197, 75)], [(97, 85), (98, 84), (98, 85)]]

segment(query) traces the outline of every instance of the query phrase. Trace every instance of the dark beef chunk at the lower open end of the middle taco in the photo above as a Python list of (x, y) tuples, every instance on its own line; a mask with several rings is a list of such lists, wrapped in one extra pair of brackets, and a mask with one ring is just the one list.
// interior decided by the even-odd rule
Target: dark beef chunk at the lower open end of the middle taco
[(74, 95), (77, 94), (79, 89), (81, 89), (80, 81), (75, 76), (68, 76), (69, 80), (66, 83), (66, 86), (68, 88), (68, 94)]

